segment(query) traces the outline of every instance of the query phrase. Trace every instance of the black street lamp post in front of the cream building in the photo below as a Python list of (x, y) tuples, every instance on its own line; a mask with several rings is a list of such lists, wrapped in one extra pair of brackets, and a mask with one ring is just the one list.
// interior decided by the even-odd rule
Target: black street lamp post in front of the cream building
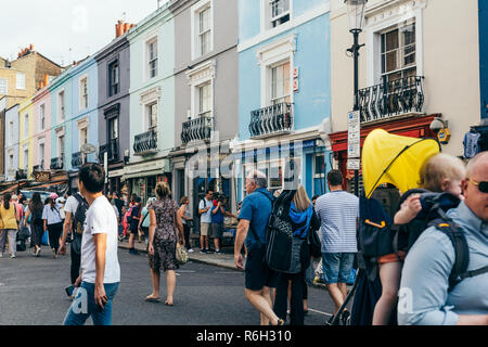
[[(359, 44), (359, 33), (362, 31), (364, 22), (364, 7), (368, 0), (344, 0), (347, 5), (349, 16), (349, 31), (352, 34), (354, 43), (347, 51), (352, 54), (355, 61), (355, 103), (354, 111), (359, 111), (359, 49), (364, 44)], [(349, 158), (348, 158), (349, 159)], [(355, 195), (359, 196), (359, 170), (355, 170)]]

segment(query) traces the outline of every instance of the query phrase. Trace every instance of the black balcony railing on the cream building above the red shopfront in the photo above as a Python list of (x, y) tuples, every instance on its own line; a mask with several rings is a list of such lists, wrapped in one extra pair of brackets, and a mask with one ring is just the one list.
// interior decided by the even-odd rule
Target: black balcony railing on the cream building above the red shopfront
[(361, 123), (422, 113), (423, 78), (423, 76), (404, 77), (360, 89), (358, 101)]

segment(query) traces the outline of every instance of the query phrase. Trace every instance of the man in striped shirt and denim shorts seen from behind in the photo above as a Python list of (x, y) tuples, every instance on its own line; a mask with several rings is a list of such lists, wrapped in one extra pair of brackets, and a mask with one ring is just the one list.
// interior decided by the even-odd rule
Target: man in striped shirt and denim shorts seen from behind
[[(328, 185), (330, 193), (317, 200), (316, 213), (321, 221), (324, 282), (334, 300), (335, 316), (346, 299), (346, 283), (358, 252), (359, 198), (343, 191), (343, 176), (338, 170), (329, 171)], [(345, 310), (343, 321), (348, 317), (349, 312)]]

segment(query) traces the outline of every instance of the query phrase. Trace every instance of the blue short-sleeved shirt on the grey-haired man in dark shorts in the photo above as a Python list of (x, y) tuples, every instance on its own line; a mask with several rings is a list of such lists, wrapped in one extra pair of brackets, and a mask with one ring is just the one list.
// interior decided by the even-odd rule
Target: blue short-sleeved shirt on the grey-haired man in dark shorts
[(266, 228), (268, 226), (269, 216), (271, 215), (272, 198), (271, 193), (269, 193), (265, 188), (259, 188), (247, 195), (242, 202), (239, 219), (245, 219), (251, 222), (249, 230), (247, 231), (247, 236), (244, 242), (246, 247), (256, 242), (251, 228), (256, 231), (259, 241), (261, 243), (266, 243)]

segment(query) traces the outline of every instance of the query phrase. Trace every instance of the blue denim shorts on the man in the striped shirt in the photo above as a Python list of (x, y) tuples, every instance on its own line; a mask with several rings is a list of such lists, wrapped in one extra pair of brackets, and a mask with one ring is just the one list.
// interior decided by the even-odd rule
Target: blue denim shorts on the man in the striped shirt
[(325, 284), (349, 282), (355, 255), (355, 253), (322, 253)]

